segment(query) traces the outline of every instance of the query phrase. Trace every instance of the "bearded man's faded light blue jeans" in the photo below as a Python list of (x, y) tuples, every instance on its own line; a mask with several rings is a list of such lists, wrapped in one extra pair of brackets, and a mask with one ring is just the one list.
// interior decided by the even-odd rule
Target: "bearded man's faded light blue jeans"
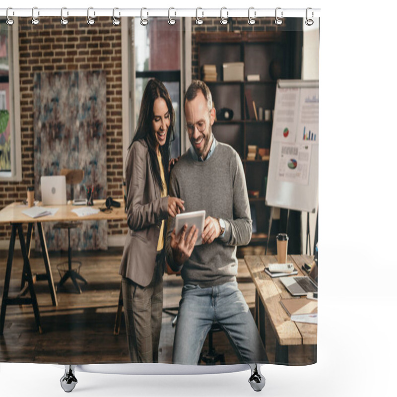
[(240, 362), (267, 362), (258, 329), (236, 281), (208, 288), (184, 285), (172, 362), (197, 364), (205, 337), (213, 323), (218, 323), (225, 331)]

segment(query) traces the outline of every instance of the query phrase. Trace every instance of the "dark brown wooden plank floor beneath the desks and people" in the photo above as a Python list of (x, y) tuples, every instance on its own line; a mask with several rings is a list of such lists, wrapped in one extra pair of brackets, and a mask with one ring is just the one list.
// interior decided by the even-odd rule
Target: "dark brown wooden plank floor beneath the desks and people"
[[(256, 249), (258, 252), (258, 249)], [(81, 274), (88, 284), (77, 294), (71, 281), (57, 291), (58, 307), (52, 305), (47, 281), (37, 281), (35, 291), (40, 308), (43, 333), (39, 334), (33, 310), (27, 306), (7, 306), (3, 335), (0, 336), (1, 362), (29, 363), (128, 363), (129, 354), (124, 315), (119, 335), (114, 335), (114, 325), (120, 292), (118, 274), (121, 249), (96, 252), (73, 252), (73, 260), (82, 262)], [(0, 252), (0, 286), (3, 291), (7, 252)], [(50, 253), (54, 281), (60, 280), (57, 265), (67, 260), (66, 253)], [(40, 253), (32, 252), (31, 267), (34, 273), (43, 273)], [(10, 295), (19, 292), (22, 257), (15, 251), (12, 266)], [(253, 312), (255, 286), (251, 282), (244, 260), (239, 260), (239, 287)], [(164, 308), (178, 307), (182, 290), (181, 277), (164, 275)], [(163, 313), (159, 346), (159, 361), (170, 363), (175, 328), (172, 321), (176, 311)], [(225, 354), (226, 364), (237, 363), (237, 357), (223, 332), (214, 334), (217, 351)], [(208, 348), (205, 341), (203, 350)], [(266, 351), (274, 360), (275, 337), (266, 327)], [(307, 362), (311, 351), (290, 348), (290, 363)], [(219, 364), (219, 363), (218, 363)]]

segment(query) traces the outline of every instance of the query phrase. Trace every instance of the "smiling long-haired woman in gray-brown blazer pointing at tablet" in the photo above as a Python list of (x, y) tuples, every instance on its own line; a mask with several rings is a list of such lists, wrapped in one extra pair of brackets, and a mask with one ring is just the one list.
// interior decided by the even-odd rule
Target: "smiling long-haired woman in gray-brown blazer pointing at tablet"
[(175, 113), (164, 84), (151, 79), (143, 92), (126, 162), (127, 234), (119, 273), (132, 362), (157, 362), (165, 269), (164, 221), (183, 211), (168, 197), (168, 164)]

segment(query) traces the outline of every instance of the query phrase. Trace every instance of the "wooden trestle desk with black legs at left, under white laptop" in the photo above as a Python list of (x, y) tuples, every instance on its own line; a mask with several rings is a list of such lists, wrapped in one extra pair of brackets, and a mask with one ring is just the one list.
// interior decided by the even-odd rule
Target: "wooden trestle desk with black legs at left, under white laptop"
[[(46, 268), (46, 272), (44, 274), (38, 274), (36, 276), (36, 279), (48, 281), (53, 305), (57, 306), (58, 305), (57, 295), (55, 292), (54, 279), (51, 271), (50, 258), (48, 256), (47, 244), (43, 233), (42, 222), (127, 219), (127, 215), (124, 210), (124, 200), (120, 199), (117, 201), (121, 202), (121, 206), (119, 208), (112, 207), (111, 211), (106, 211), (106, 212), (99, 211), (97, 214), (88, 215), (88, 216), (76, 215), (71, 210), (78, 208), (79, 206), (71, 205), (70, 203), (66, 205), (49, 205), (48, 208), (58, 208), (58, 211), (54, 215), (41, 216), (39, 218), (31, 218), (30, 216), (23, 214), (22, 211), (27, 209), (27, 206), (21, 202), (14, 202), (1, 209), (0, 224), (10, 223), (11, 237), (9, 241), (7, 267), (5, 270), (5, 278), (4, 278), (4, 290), (1, 301), (0, 335), (3, 334), (3, 330), (4, 330), (5, 309), (7, 305), (21, 305), (21, 304), (25, 304), (25, 305), (30, 304), (33, 306), (33, 312), (35, 315), (38, 331), (42, 333), (41, 324), (40, 324), (40, 312), (37, 304), (36, 294), (34, 291), (34, 280), (29, 262), (30, 243), (32, 239), (33, 224), (34, 223), (37, 224), (44, 265)], [(93, 208), (105, 208), (105, 200), (104, 199), (94, 200)], [(23, 236), (23, 229), (22, 229), (22, 225), (24, 223), (28, 224), (26, 240), (25, 237)], [(12, 269), (12, 260), (14, 256), (16, 233), (18, 233), (19, 242), (21, 245), (21, 252), (23, 257), (23, 274), (22, 274), (22, 282), (21, 282), (21, 291), (19, 292), (16, 298), (10, 298), (8, 296), (8, 290), (9, 290), (9, 283), (11, 278), (11, 269)], [(25, 285), (26, 283), (27, 285)], [(27, 289), (29, 289), (30, 298), (23, 297), (23, 295), (27, 292)]]

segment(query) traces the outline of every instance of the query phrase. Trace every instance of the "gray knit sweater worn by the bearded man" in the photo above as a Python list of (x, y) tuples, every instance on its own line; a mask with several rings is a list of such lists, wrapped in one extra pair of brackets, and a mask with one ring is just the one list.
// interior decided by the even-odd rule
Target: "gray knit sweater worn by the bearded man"
[(174, 263), (170, 247), (175, 218), (169, 218), (168, 264), (173, 270), (181, 270), (184, 284), (205, 288), (235, 281), (236, 247), (247, 245), (252, 234), (247, 186), (238, 153), (231, 146), (217, 142), (211, 157), (201, 162), (194, 160), (188, 150), (171, 172), (169, 193), (185, 200), (185, 212), (205, 209), (205, 217), (222, 218), (226, 227), (222, 238), (195, 247), (191, 257), (179, 267)]

